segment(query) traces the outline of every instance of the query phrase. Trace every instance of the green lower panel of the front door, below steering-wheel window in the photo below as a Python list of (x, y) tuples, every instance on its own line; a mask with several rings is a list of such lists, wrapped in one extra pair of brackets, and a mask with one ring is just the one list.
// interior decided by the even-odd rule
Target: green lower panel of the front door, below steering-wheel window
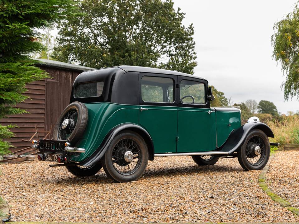
[(177, 152), (203, 152), (216, 149), (215, 112), (206, 108), (178, 108)]

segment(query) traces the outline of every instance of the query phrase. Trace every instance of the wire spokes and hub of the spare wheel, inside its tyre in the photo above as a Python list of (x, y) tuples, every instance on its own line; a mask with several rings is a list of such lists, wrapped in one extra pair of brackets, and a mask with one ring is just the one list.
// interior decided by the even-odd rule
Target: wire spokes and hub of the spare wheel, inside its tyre
[(66, 140), (74, 132), (78, 120), (78, 111), (76, 109), (69, 110), (60, 120), (57, 139)]

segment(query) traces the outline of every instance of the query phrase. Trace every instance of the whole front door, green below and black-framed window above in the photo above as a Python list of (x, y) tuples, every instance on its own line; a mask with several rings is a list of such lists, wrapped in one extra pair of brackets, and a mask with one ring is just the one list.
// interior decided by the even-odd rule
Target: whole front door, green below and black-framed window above
[(216, 149), (216, 114), (210, 109), (208, 83), (178, 77), (177, 152), (205, 152)]

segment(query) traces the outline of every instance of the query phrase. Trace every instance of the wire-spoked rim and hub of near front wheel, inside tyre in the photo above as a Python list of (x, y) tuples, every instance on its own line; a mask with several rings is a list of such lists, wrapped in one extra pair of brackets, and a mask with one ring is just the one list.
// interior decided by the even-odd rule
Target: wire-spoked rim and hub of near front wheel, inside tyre
[(266, 145), (263, 138), (258, 135), (251, 137), (247, 142), (245, 155), (251, 165), (260, 165), (266, 156)]

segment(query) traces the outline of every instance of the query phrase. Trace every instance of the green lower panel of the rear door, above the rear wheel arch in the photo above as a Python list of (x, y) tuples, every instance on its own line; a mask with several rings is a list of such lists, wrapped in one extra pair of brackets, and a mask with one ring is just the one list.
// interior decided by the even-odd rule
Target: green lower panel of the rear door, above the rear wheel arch
[[(141, 107), (141, 106), (140, 106)], [(142, 106), (139, 124), (150, 134), (155, 153), (176, 152), (178, 107)]]

